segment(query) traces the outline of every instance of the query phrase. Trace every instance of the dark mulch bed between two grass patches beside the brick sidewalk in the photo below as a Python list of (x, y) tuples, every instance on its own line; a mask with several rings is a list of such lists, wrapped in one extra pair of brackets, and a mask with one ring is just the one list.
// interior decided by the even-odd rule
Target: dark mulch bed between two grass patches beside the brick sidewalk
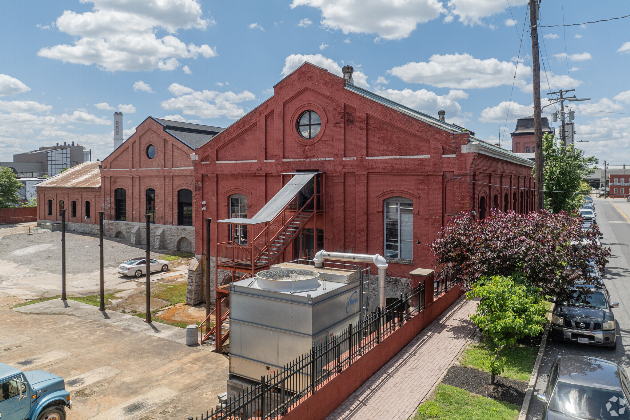
[(527, 390), (527, 382), (500, 376), (495, 377), (495, 385), (490, 385), (490, 373), (459, 365), (450, 366), (442, 383), (518, 406), (522, 406)]

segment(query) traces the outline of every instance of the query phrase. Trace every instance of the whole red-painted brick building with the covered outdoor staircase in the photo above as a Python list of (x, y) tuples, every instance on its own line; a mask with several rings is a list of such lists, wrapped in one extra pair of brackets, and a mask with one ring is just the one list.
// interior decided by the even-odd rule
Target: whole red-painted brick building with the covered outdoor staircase
[[(398, 297), (410, 271), (432, 266), (427, 244), (457, 213), (534, 210), (533, 162), (358, 88), (350, 66), (344, 74), (304, 63), (195, 150), (195, 249), (207, 253), (203, 219), (212, 218), (220, 285), (230, 271), (239, 278), (326, 249), (385, 256), (387, 297)], [(294, 181), (304, 173), (309, 181)], [(295, 201), (283, 209), (292, 182), (303, 188), (287, 190)], [(202, 299), (200, 283), (189, 284), (189, 302)]]

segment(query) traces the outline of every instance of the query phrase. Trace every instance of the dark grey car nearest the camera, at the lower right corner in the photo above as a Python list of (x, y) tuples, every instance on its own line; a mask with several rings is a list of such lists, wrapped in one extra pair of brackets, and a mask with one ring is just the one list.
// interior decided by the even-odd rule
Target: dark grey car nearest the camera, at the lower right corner
[(549, 370), (542, 420), (628, 419), (630, 382), (624, 368), (589, 356), (558, 356)]

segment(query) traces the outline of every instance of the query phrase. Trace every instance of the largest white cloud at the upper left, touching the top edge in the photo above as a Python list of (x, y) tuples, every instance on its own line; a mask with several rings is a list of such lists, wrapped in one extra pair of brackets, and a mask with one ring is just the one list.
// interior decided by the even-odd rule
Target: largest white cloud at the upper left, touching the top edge
[[(82, 0), (88, 3), (88, 0)], [(55, 26), (74, 38), (74, 45), (44, 47), (40, 57), (73, 64), (91, 65), (106, 71), (169, 71), (178, 59), (196, 59), (217, 55), (204, 44), (186, 45), (175, 37), (179, 29), (205, 30), (214, 20), (202, 18), (197, 0), (92, 0), (92, 11), (66, 10)], [(169, 35), (157, 38), (159, 30)]]

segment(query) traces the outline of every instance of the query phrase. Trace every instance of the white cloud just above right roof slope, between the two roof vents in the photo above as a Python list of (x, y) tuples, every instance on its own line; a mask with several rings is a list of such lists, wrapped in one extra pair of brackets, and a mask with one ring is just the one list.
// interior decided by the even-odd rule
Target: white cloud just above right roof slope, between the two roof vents
[(385, 96), (392, 101), (409, 106), (414, 110), (436, 117), (437, 111), (445, 110), (448, 122), (452, 122), (453, 117), (461, 115), (462, 107), (457, 101), (468, 98), (466, 92), (455, 89), (441, 96), (435, 92), (427, 91), (427, 89), (420, 89), (418, 91), (412, 91), (411, 89), (403, 89), (402, 91), (395, 89), (377, 89), (375, 93)]

